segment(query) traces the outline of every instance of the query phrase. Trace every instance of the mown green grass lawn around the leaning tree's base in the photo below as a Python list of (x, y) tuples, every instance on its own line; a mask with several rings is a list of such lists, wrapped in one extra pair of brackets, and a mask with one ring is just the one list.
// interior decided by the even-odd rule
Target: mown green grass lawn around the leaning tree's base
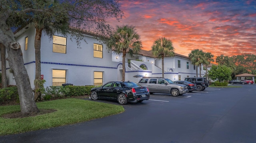
[(80, 123), (124, 112), (124, 108), (119, 105), (76, 98), (38, 102), (36, 105), (39, 110), (56, 111), (26, 118), (2, 118), (4, 114), (20, 112), (20, 105), (0, 106), (0, 135)]

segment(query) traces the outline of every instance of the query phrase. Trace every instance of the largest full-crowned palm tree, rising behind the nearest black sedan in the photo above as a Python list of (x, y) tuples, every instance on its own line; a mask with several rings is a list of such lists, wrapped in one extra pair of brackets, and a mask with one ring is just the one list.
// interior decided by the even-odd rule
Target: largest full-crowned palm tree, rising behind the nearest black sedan
[(142, 43), (140, 41), (140, 35), (136, 32), (133, 25), (116, 26), (116, 30), (113, 35), (107, 41), (107, 47), (109, 50), (116, 51), (117, 54), (122, 53), (122, 81), (125, 81), (125, 57), (128, 52), (131, 56), (138, 54), (141, 51)]

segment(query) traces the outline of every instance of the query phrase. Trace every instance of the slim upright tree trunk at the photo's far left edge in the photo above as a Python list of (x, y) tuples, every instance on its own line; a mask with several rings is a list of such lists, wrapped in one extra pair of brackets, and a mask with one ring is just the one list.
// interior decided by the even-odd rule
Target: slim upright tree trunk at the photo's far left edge
[(5, 47), (4, 44), (0, 43), (1, 51), (1, 68), (2, 68), (2, 88), (7, 87), (7, 76), (6, 76), (6, 61), (5, 61)]

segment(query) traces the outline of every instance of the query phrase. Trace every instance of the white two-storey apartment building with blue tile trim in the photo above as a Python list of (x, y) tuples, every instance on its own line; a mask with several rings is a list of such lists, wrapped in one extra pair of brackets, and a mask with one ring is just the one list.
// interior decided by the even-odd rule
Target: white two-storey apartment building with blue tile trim
[[(14, 33), (16, 41), (22, 48), (31, 88), (34, 88), (36, 70), (35, 32), (34, 27), (28, 26)], [(63, 83), (79, 86), (102, 85), (108, 81), (122, 80), (122, 54), (117, 55), (115, 51), (108, 51), (106, 45), (92, 35), (87, 34), (85, 38), (86, 42), (81, 41), (78, 46), (75, 40), (70, 40), (69, 36), (54, 35), (50, 39), (44, 33), (42, 34), (41, 77), (46, 80), (45, 87), (61, 86)], [(125, 66), (127, 81), (138, 82), (140, 78), (134, 77), (136, 75), (162, 76), (162, 59), (153, 57), (150, 51), (142, 50), (139, 55), (133, 57), (127, 54)], [(146, 70), (140, 68), (141, 66), (146, 67)], [(8, 61), (6, 61), (6, 69), (8, 84), (15, 85)], [(196, 67), (192, 65), (190, 58), (179, 54), (164, 58), (164, 71), (164, 77), (173, 81), (184, 80), (185, 77), (196, 77)], [(202, 76), (204, 76), (203, 71)]]

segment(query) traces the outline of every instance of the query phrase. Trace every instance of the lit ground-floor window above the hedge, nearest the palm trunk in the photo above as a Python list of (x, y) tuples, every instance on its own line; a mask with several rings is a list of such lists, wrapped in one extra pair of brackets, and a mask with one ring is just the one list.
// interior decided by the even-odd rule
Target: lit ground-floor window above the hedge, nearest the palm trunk
[(66, 70), (52, 70), (52, 86), (62, 86), (66, 83)]

